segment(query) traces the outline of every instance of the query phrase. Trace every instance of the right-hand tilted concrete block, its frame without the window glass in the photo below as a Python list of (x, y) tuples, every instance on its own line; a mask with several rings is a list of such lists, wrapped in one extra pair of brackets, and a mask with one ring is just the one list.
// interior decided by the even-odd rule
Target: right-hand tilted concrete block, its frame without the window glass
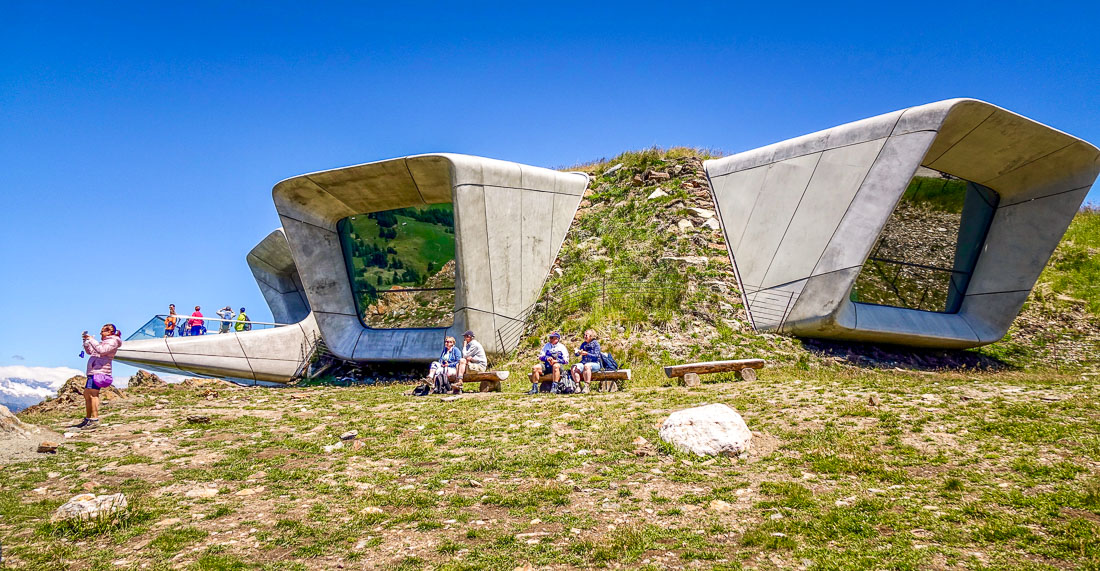
[[(917, 167), (1000, 202), (957, 312), (849, 294)], [(704, 164), (758, 330), (967, 348), (1001, 339), (1100, 173), (1091, 144), (996, 106), (953, 99)]]

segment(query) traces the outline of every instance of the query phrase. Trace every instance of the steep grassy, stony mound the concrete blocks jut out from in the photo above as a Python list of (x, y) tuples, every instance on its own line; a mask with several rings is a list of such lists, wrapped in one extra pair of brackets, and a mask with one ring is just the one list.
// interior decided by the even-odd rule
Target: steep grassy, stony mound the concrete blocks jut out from
[[(660, 364), (749, 356), (802, 369), (1100, 366), (1096, 209), (1074, 219), (1022, 315), (998, 343), (970, 351), (914, 351), (802, 341), (749, 327), (724, 237), (703, 227), (706, 217), (693, 210), (714, 210), (702, 171), (710, 156), (697, 149), (651, 149), (571, 167), (590, 173), (592, 183), (509, 366), (531, 362), (549, 331), (562, 330), (572, 348), (588, 327), (640, 373), (644, 384), (666, 382)], [(670, 176), (647, 176), (653, 172)], [(666, 196), (651, 198), (657, 190)], [(682, 220), (691, 228), (679, 228)]]

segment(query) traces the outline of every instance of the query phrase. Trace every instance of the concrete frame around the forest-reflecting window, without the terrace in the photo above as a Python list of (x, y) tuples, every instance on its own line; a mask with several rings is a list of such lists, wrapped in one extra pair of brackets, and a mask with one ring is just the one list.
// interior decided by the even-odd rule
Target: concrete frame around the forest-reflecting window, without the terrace
[[(474, 328), (490, 353), (537, 300), (587, 187), (587, 176), (469, 155), (416, 155), (310, 173), (275, 185), (275, 208), (301, 292), (333, 354), (426, 361), (442, 338)], [(446, 329), (371, 329), (360, 321), (336, 233), (348, 216), (452, 202), (455, 315)], [(501, 319), (497, 319), (497, 318)]]

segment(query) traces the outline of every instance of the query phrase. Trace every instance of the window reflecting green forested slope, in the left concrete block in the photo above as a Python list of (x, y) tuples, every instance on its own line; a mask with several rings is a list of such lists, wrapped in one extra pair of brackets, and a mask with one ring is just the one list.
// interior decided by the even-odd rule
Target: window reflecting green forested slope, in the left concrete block
[(375, 329), (454, 322), (452, 205), (384, 210), (337, 223), (360, 319)]

